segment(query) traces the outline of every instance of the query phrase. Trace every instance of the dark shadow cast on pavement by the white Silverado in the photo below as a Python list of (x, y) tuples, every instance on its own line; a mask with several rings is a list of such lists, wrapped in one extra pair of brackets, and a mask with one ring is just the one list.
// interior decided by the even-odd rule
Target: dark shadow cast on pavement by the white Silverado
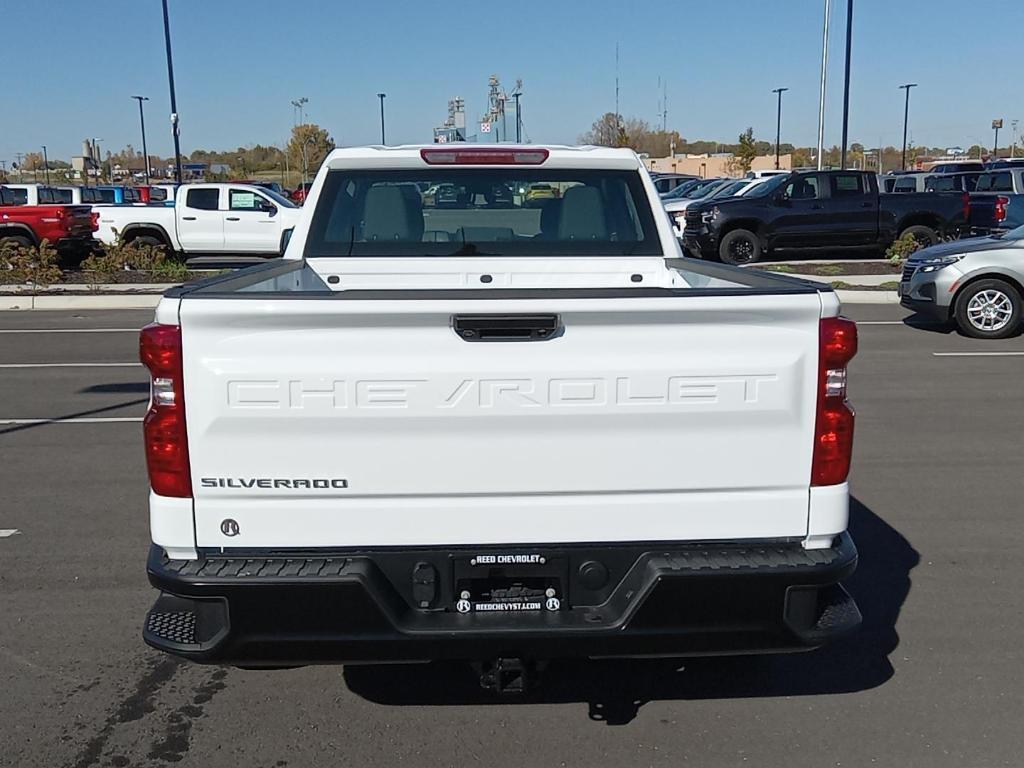
[(648, 701), (851, 693), (893, 676), (896, 621), (920, 556), (895, 528), (851, 500), (850, 531), (860, 553), (846, 583), (864, 616), (850, 638), (809, 653), (654, 660), (553, 662), (540, 686), (518, 696), (480, 689), (469, 665), (351, 666), (355, 694), (391, 706), (587, 702), (591, 720), (625, 725)]

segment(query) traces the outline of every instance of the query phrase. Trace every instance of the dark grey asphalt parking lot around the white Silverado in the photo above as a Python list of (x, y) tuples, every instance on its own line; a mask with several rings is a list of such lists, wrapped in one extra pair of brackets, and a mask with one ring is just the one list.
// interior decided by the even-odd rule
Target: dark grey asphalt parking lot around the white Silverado
[(555, 665), (512, 701), (458, 666), (252, 672), (145, 647), (152, 311), (0, 313), (0, 764), (1019, 766), (1024, 338), (847, 313), (862, 631), (798, 656)]

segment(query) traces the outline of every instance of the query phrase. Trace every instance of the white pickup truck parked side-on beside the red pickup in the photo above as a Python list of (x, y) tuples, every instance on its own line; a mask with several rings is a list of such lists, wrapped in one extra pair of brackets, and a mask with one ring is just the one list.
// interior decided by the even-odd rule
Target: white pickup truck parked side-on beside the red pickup
[(252, 184), (187, 184), (173, 205), (98, 209), (96, 238), (114, 244), (139, 240), (182, 256), (281, 255), (286, 231), (301, 209), (271, 189)]

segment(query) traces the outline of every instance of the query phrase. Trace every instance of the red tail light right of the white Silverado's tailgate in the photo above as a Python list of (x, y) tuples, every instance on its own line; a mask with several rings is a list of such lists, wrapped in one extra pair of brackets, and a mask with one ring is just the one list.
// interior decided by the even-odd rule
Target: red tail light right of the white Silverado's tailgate
[(850, 474), (854, 413), (846, 399), (846, 367), (857, 353), (857, 326), (825, 317), (819, 328), (818, 409), (811, 485), (837, 485)]

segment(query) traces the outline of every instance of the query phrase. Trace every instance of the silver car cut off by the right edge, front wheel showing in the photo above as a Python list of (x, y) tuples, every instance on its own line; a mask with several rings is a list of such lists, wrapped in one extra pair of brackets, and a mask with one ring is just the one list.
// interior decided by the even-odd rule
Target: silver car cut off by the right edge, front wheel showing
[(900, 303), (953, 322), (961, 333), (1002, 339), (1024, 317), (1024, 226), (913, 253), (900, 276)]

